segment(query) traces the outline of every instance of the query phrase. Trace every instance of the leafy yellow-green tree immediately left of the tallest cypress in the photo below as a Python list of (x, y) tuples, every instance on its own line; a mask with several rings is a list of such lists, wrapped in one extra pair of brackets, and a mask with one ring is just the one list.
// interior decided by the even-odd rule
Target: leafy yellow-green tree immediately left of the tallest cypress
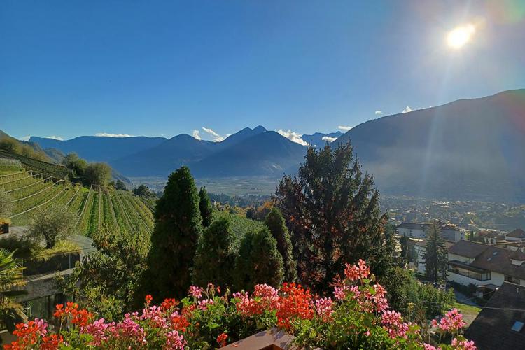
[(131, 309), (137, 282), (149, 251), (150, 235), (116, 233), (108, 225), (92, 236), (93, 248), (67, 279), (57, 276), (66, 295), (72, 295), (106, 320), (117, 320)]

